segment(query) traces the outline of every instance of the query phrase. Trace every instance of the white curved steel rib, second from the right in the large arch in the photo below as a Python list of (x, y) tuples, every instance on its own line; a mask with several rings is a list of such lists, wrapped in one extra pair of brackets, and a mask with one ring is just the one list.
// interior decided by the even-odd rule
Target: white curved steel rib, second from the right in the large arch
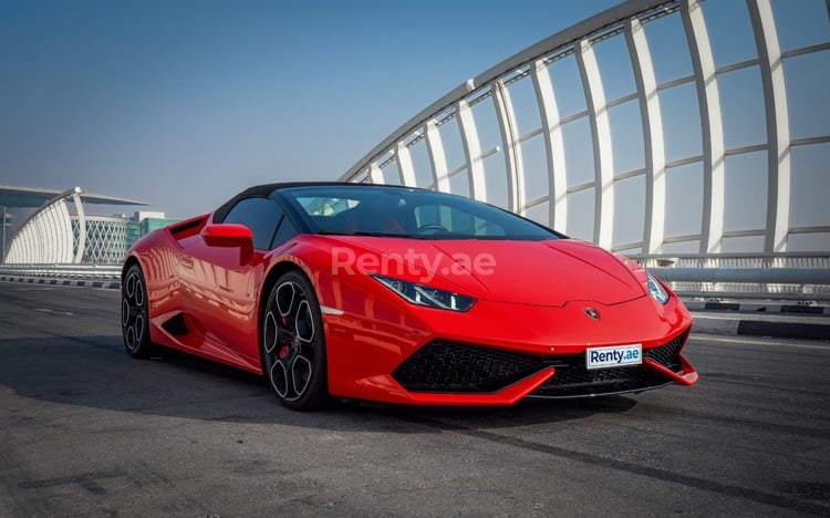
[(706, 21), (697, 0), (681, 2), (681, 17), (692, 53), (703, 137), (703, 215), (701, 253), (720, 251), (724, 237), (724, 122)]

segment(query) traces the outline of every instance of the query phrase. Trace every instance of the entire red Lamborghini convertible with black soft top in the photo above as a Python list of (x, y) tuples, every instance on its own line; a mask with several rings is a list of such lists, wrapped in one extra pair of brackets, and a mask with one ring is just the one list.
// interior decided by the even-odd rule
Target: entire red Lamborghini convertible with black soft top
[(252, 187), (129, 251), (122, 329), (331, 396), (509, 405), (691, 385), (692, 319), (643, 268), (499, 208), (366, 184)]

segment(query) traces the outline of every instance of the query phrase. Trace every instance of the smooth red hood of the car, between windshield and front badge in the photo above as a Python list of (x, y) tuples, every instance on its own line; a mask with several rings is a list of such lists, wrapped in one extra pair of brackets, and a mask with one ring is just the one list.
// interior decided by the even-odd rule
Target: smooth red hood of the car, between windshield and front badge
[(366, 268), (372, 272), (453, 289), (478, 299), (560, 307), (575, 300), (615, 304), (645, 294), (614, 256), (574, 239), (335, 239), (376, 255), (372, 260), (363, 258), (363, 266), (373, 267)]

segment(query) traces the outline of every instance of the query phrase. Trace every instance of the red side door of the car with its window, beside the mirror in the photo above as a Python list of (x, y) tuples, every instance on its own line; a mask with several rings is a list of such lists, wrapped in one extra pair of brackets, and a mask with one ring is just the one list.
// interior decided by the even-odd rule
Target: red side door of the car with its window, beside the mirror
[(271, 248), (284, 215), (274, 200), (249, 197), (239, 200), (214, 224), (243, 225), (251, 230), (253, 250), (240, 247), (210, 246), (197, 239), (185, 250), (181, 277), (190, 287), (185, 305), (198, 323), (204, 338), (201, 348), (227, 361), (259, 362), (257, 344), (258, 286), (264, 276), (264, 255)]

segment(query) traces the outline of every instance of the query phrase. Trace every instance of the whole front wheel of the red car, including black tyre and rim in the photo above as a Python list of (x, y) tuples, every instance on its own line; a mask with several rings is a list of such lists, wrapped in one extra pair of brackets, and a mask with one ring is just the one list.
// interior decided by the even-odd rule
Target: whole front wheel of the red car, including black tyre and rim
[(302, 273), (289, 271), (271, 287), (261, 314), (268, 384), (288, 408), (322, 407), (329, 401), (325, 335), (313, 287)]

